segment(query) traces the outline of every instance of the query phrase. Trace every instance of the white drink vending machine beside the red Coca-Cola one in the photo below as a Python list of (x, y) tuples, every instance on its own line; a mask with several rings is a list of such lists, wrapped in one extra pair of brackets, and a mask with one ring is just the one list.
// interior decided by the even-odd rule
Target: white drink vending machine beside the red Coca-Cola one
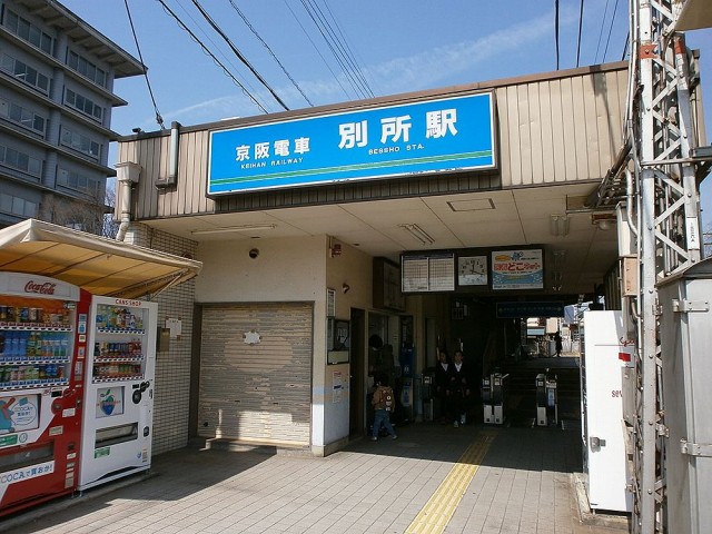
[(79, 490), (150, 468), (158, 305), (95, 296)]

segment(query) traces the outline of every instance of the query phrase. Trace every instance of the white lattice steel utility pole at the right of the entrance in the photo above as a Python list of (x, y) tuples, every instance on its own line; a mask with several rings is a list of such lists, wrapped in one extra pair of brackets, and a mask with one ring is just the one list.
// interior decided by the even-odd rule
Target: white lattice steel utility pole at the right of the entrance
[[(690, 0), (688, 0), (690, 1)], [(626, 161), (635, 194), (627, 208), (637, 225), (640, 284), (635, 309), (637, 406), (632, 428), (634, 533), (657, 533), (665, 524), (665, 447), (656, 284), (701, 258), (695, 128), (690, 53), (675, 22), (685, 2), (633, 0)], [(675, 444), (670, 444), (675, 446)]]

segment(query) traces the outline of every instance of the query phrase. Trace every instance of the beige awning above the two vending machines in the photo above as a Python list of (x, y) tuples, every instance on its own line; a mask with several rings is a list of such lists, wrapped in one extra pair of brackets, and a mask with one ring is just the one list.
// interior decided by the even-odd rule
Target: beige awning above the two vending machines
[(139, 298), (201, 268), (201, 261), (36, 219), (0, 229), (0, 270), (49, 276), (93, 295)]

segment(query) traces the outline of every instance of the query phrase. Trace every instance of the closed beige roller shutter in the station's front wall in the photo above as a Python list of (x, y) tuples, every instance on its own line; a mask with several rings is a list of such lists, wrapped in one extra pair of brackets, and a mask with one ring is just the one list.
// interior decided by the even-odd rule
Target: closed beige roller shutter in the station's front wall
[(310, 304), (204, 307), (198, 434), (308, 445), (312, 349)]

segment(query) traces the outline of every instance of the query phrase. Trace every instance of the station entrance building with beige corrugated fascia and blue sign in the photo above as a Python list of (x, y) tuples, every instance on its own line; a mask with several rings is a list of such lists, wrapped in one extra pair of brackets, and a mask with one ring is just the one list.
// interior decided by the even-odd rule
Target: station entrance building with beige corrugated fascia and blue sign
[(479, 379), (522, 318), (615, 307), (625, 239), (595, 194), (627, 85), (619, 62), (120, 139), (125, 239), (204, 265), (157, 297), (154, 451), (326, 455), (366, 432), (378, 366), (417, 421), (438, 348)]

